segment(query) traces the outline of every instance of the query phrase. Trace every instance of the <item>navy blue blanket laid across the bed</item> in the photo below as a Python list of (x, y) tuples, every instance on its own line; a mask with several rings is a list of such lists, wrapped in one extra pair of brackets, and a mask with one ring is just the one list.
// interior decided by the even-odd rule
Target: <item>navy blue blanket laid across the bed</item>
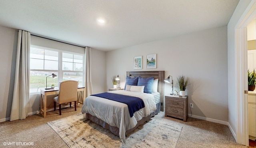
[(101, 94), (92, 94), (91, 96), (98, 96), (101, 98), (106, 98), (109, 100), (114, 100), (117, 102), (127, 104), (131, 118), (132, 118), (134, 112), (145, 107), (143, 100), (138, 97), (126, 96), (126, 95), (122, 95), (122, 94), (113, 94), (113, 93), (109, 93), (109, 92), (104, 92)]

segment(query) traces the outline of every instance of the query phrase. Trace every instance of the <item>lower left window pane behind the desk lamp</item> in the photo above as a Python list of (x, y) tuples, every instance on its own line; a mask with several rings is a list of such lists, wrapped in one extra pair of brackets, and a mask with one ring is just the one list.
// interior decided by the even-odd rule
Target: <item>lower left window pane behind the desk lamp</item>
[(30, 71), (30, 93), (40, 92), (40, 89), (46, 88), (46, 76), (48, 76), (47, 88), (50, 88), (52, 84), (58, 86), (58, 78), (53, 79), (52, 76), (49, 76), (53, 73), (58, 76), (58, 72)]

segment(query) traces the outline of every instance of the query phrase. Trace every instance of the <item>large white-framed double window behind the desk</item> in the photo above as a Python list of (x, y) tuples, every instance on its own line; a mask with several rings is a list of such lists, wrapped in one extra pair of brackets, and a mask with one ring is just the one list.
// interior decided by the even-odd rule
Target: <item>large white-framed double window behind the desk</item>
[[(51, 74), (58, 78), (53, 79)], [(47, 77), (49, 76), (49, 77)], [(40, 89), (58, 87), (58, 82), (76, 80), (84, 84), (84, 55), (40, 46), (30, 46), (30, 93)]]

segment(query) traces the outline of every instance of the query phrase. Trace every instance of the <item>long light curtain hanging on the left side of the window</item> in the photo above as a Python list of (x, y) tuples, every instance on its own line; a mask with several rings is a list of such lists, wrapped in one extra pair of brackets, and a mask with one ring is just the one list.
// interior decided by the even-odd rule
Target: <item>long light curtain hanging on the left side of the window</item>
[(10, 121), (25, 119), (28, 114), (30, 79), (30, 32), (18, 31), (16, 69)]

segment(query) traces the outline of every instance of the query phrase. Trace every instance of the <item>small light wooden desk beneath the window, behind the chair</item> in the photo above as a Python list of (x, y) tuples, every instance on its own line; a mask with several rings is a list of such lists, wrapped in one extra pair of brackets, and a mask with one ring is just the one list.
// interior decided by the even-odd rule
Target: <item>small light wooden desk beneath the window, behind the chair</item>
[[(77, 103), (84, 103), (84, 92), (85, 87), (79, 87), (77, 88)], [(58, 88), (52, 88), (52, 89), (41, 89), (41, 101), (40, 101), (40, 113), (44, 112), (44, 117), (46, 117), (46, 102), (47, 102), (47, 96), (58, 94), (59, 89)], [(82, 101), (80, 101), (80, 98), (82, 98)]]

